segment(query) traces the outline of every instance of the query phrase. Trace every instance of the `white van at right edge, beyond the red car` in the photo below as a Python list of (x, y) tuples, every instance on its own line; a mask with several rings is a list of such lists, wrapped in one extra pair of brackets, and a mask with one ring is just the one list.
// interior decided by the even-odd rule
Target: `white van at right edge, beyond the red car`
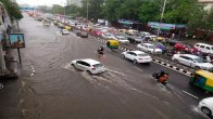
[(211, 53), (213, 54), (213, 45), (206, 44), (206, 43), (196, 43), (195, 48), (200, 50), (203, 53)]

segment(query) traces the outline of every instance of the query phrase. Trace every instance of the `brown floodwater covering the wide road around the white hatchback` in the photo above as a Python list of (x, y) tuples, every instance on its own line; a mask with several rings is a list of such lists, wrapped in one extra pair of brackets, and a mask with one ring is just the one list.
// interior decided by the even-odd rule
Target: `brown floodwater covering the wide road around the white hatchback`
[[(25, 15), (20, 22), (26, 48), (21, 50), (23, 119), (203, 119), (192, 98), (158, 84), (147, 70), (105, 51), (108, 71), (91, 76), (71, 66), (97, 58), (102, 45), (74, 34), (62, 36)], [(151, 65), (152, 66), (152, 65)]]

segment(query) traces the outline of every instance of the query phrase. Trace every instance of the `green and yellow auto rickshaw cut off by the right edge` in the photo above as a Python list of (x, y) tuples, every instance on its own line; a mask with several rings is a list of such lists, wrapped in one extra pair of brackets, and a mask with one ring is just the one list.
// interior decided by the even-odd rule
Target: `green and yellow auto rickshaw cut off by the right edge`
[(190, 84), (204, 89), (206, 92), (213, 92), (213, 72), (206, 70), (197, 70), (190, 77)]

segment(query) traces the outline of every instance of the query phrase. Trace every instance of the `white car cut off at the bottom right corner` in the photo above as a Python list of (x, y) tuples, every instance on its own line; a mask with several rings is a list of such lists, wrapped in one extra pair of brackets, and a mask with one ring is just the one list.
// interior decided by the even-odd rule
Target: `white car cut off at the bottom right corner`
[(206, 116), (213, 117), (213, 97), (206, 97), (200, 101), (198, 108)]

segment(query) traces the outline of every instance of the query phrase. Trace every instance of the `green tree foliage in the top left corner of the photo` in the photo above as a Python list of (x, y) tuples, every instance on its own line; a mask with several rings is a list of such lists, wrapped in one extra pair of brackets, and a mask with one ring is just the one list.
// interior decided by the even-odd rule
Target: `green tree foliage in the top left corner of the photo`
[(11, 2), (11, 0), (0, 0), (0, 2), (4, 4), (11, 19), (13, 19), (13, 17), (16, 19), (23, 18), (17, 3)]

